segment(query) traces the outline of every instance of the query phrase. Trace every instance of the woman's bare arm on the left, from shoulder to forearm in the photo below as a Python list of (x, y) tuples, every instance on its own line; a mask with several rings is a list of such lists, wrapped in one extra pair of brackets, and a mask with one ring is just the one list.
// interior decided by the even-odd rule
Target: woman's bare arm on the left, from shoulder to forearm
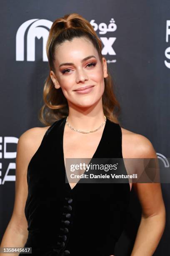
[[(27, 241), (28, 223), (25, 217), (25, 203), (28, 196), (27, 169), (30, 159), (40, 146), (44, 133), (45, 128), (31, 128), (23, 133), (18, 140), (14, 209), (0, 247), (24, 247)], [(17, 254), (3, 253), (0, 255), (16, 256)]]

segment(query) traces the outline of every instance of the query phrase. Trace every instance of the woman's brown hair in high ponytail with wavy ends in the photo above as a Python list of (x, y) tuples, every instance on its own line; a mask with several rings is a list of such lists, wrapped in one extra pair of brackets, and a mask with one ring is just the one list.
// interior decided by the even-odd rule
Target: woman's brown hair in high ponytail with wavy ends
[[(52, 23), (49, 36), (47, 38), (47, 58), (50, 70), (55, 73), (55, 47), (63, 42), (72, 41), (73, 38), (87, 38), (97, 49), (100, 61), (102, 63), (102, 42), (95, 33), (92, 25), (77, 13), (66, 14)], [(110, 73), (104, 78), (105, 90), (102, 95), (102, 105), (104, 115), (111, 121), (119, 123), (117, 116), (120, 113), (120, 104), (113, 93), (113, 82)], [(51, 125), (56, 120), (68, 115), (67, 99), (62, 93), (61, 87), (55, 89), (50, 74), (48, 75), (43, 90), (44, 105), (39, 112), (39, 119), (45, 125)], [(115, 112), (115, 113), (114, 113)]]

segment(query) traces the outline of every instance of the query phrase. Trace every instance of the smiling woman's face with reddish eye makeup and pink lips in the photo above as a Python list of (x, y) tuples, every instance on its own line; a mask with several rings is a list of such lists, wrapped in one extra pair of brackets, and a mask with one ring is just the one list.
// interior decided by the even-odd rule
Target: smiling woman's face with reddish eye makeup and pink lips
[[(107, 63), (100, 62), (97, 50), (86, 38), (65, 41), (55, 50), (55, 74), (50, 72), (56, 89), (61, 87), (68, 105), (90, 107), (104, 92)], [(85, 90), (81, 87), (92, 86)], [(77, 90), (77, 91), (76, 91)]]

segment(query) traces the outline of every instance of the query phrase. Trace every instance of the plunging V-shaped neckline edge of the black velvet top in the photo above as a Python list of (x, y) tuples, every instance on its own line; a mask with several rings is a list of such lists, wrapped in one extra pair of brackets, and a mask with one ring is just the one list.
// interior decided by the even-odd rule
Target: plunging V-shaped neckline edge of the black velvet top
[[(69, 189), (70, 189), (71, 191), (73, 191), (73, 189), (75, 189), (75, 187), (77, 187), (77, 184), (80, 182), (81, 179), (79, 179), (79, 181), (75, 184), (75, 186), (74, 186), (73, 188), (71, 188), (70, 183), (68, 182), (67, 172), (66, 172), (66, 169), (65, 169), (65, 161), (64, 161), (63, 137), (64, 137), (65, 122), (66, 122), (66, 118), (63, 118), (63, 121), (62, 121), (62, 131), (61, 131), (62, 165), (63, 165), (63, 169), (64, 169), (64, 173), (65, 173), (65, 179), (67, 180), (67, 185), (69, 186)], [(96, 149), (95, 153), (93, 154), (93, 156), (92, 156), (90, 162), (91, 162), (92, 159), (97, 155), (97, 152), (98, 152), (98, 150), (99, 150), (99, 148), (100, 148), (100, 145), (102, 144), (102, 141), (103, 141), (104, 136), (105, 136), (107, 124), (108, 124), (108, 119), (106, 118), (106, 123), (105, 123), (104, 129), (103, 129), (103, 131), (102, 131), (102, 136), (101, 136), (101, 138), (100, 138), (100, 141), (99, 141), (99, 143), (98, 143), (97, 149)], [(89, 164), (90, 164), (90, 162), (89, 162)]]

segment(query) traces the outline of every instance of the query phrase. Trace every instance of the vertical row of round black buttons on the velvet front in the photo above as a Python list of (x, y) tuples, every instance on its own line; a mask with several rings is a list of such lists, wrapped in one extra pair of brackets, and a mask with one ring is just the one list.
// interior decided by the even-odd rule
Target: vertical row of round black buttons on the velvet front
[[(72, 203), (72, 198), (70, 197), (65, 197), (65, 200), (67, 202), (66, 205), (64, 205), (64, 212), (62, 213), (63, 219), (62, 219), (62, 228), (60, 230), (62, 231), (61, 234), (58, 235), (58, 242), (57, 246), (53, 248), (53, 251), (60, 253), (63, 247), (65, 247), (65, 243), (67, 241), (67, 236), (69, 233), (69, 225), (70, 225), (70, 218), (71, 218), (71, 211), (72, 211), (72, 206), (70, 205)], [(66, 212), (65, 212), (66, 211)], [(58, 254), (57, 254), (58, 255)], [(62, 252), (61, 256), (68, 256), (70, 255), (70, 251), (65, 250)]]

